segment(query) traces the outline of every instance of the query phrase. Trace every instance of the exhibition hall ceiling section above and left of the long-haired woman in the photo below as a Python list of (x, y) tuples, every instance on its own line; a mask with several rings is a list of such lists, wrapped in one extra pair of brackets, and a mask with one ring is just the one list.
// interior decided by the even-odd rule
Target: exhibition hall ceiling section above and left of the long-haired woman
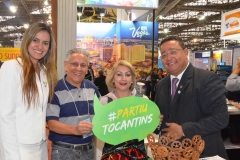
[(14, 40), (22, 38), (25, 26), (36, 21), (51, 23), (51, 1), (0, 0), (0, 46), (12, 47)]

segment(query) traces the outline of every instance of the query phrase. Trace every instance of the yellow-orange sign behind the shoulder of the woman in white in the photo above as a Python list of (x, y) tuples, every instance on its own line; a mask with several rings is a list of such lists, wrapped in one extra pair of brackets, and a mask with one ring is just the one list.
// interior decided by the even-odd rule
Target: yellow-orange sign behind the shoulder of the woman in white
[(20, 56), (20, 48), (0, 48), (0, 61), (4, 62)]

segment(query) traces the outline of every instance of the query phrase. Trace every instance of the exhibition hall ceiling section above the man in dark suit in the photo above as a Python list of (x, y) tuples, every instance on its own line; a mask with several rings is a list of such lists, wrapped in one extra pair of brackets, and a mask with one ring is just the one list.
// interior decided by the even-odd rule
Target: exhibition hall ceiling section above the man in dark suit
[[(239, 7), (239, 0), (165, 0), (156, 10), (159, 39), (178, 35), (192, 50), (223, 48), (221, 14)], [(205, 18), (199, 20), (203, 15)], [(235, 45), (240, 45), (239, 41), (225, 41), (225, 47)]]

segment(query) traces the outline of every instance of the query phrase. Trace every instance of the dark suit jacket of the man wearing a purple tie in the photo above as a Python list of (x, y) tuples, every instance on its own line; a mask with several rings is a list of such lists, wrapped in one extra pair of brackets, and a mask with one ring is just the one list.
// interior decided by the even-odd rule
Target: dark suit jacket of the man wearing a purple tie
[(170, 76), (157, 84), (155, 102), (166, 122), (182, 126), (186, 137), (201, 135), (205, 140), (204, 156), (228, 158), (221, 138), (221, 129), (228, 125), (226, 89), (217, 74), (189, 64), (171, 102)]

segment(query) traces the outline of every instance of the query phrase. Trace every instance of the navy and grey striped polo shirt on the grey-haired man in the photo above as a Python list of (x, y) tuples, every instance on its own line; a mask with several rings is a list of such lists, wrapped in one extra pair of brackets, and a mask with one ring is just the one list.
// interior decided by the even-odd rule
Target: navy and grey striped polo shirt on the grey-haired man
[[(66, 85), (65, 85), (66, 84)], [(47, 108), (47, 121), (58, 120), (68, 125), (77, 126), (88, 115), (94, 115), (94, 95), (100, 97), (96, 86), (84, 79), (80, 89), (71, 85), (64, 79), (58, 81), (52, 102)], [(74, 104), (75, 102), (75, 104)], [(88, 116), (89, 117), (89, 116)], [(63, 135), (50, 131), (49, 139), (52, 142), (65, 142), (70, 144), (86, 144), (92, 142), (92, 136)]]

